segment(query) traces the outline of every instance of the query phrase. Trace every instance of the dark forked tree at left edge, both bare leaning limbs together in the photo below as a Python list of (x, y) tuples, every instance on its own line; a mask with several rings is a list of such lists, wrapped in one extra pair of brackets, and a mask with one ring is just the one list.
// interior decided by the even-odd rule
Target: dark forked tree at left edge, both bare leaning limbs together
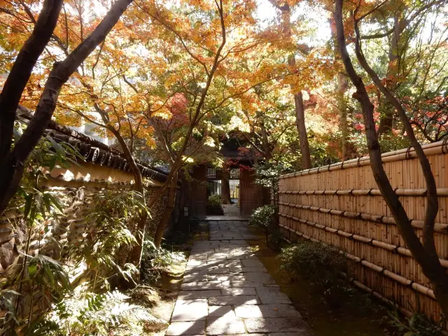
[[(60, 1), (46, 1), (41, 10), (41, 21), (36, 20), (34, 33), (27, 38), (17, 59), (12, 65), (6, 83), (1, 92), (1, 156), (5, 164), (1, 165), (0, 173), (0, 212), (6, 209), (9, 200), (15, 194), (22, 179), (24, 162), (29, 153), (41, 139), (42, 134), (56, 108), (57, 98), (62, 85), (69, 80), (73, 72), (90, 55), (94, 48), (101, 43), (113, 26), (118, 22), (132, 0), (119, 0), (113, 3), (103, 20), (94, 27), (91, 33), (78, 46), (59, 62), (55, 62), (48, 74), (43, 90), (39, 96), (33, 118), (20, 139), (12, 144), (12, 134), (15, 120), (15, 110), (18, 99), (22, 96), (25, 85), (31, 76), (31, 71), (43, 52), (52, 31), (55, 28), (57, 15), (62, 8)], [(23, 4), (25, 12), (29, 12), (27, 4)], [(8, 13), (8, 6), (2, 13)], [(30, 18), (31, 19), (31, 18)], [(48, 22), (47, 22), (48, 21)], [(47, 25), (48, 23), (48, 25)], [(4, 108), (3, 108), (4, 106)], [(13, 147), (12, 147), (13, 146)]]

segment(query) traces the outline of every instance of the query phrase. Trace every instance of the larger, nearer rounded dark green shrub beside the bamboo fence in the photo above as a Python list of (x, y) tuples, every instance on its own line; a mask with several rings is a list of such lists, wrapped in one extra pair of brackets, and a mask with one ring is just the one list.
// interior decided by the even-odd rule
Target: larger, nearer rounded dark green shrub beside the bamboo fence
[(339, 308), (349, 290), (339, 278), (339, 272), (347, 272), (345, 255), (337, 249), (313, 241), (303, 241), (283, 248), (279, 255), (281, 268), (293, 277), (309, 281), (316, 294), (331, 308)]

